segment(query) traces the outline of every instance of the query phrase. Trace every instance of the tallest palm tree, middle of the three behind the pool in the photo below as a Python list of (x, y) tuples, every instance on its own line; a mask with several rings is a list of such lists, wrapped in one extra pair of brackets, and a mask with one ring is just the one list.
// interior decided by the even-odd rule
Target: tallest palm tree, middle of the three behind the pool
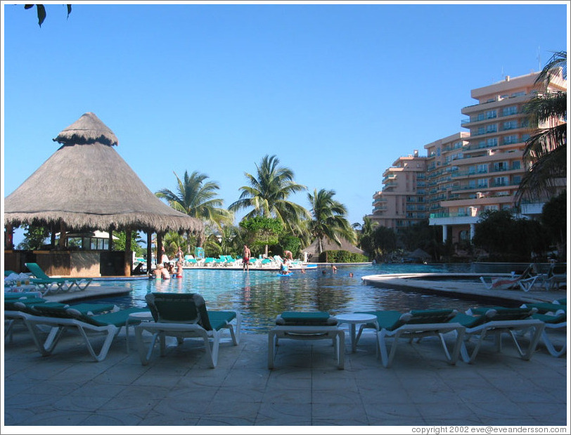
[(293, 171), (287, 167), (279, 167), (279, 162), (275, 155), (266, 155), (261, 164), (256, 165), (256, 176), (245, 172), (250, 186), (240, 187), (240, 199), (233, 202), (228, 209), (237, 212), (251, 208), (244, 219), (255, 216), (274, 217), (295, 233), (300, 230), (301, 219), (309, 218), (309, 212), (299, 204), (289, 201), (288, 197), (307, 188), (295, 183)]

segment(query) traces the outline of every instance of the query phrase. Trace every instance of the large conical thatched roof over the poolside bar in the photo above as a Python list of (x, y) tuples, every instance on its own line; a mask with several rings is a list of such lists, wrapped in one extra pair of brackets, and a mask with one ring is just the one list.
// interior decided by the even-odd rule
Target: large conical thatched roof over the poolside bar
[(4, 224), (199, 231), (203, 224), (156, 197), (117, 153), (117, 137), (89, 112), (53, 139), (63, 144), (4, 200)]

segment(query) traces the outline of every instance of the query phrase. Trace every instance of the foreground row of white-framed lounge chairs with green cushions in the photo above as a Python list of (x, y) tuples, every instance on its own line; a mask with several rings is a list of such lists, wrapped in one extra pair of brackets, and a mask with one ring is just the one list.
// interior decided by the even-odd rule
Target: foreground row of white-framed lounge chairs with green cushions
[[(135, 337), (141, 363), (146, 365), (152, 358), (157, 342), (160, 354), (165, 356), (166, 337), (176, 337), (181, 344), (185, 338), (203, 341), (210, 367), (217, 365), (221, 331), (229, 330), (232, 342), (240, 342), (241, 316), (235, 311), (207, 311), (200, 294), (150, 293), (146, 296), (148, 308), (124, 309), (96, 314), (89, 307), (58, 306), (45, 301), (15, 301), (6, 318), (23, 320), (34, 337), (41, 355), (53, 352), (66, 330), (75, 330), (96, 361), (103, 361), (110, 344), (121, 327), (135, 324)], [(566, 305), (565, 305), (566, 307)], [(101, 311), (99, 311), (101, 312)], [(130, 316), (131, 313), (148, 313), (148, 320)], [(522, 306), (517, 309), (503, 307), (478, 308), (467, 313), (451, 309), (418, 310), (400, 313), (399, 311), (369, 311), (376, 318), (371, 323), (361, 325), (376, 333), (376, 347), (383, 365), (392, 365), (401, 339), (420, 342), (425, 337), (440, 339), (446, 361), (452, 365), (459, 357), (466, 363), (474, 363), (477, 354), (489, 338), (494, 339), (496, 350), (501, 351), (501, 339), (507, 335), (512, 339), (521, 358), (529, 360), (543, 339), (553, 356), (565, 353), (565, 347), (554, 349), (546, 334), (546, 328), (565, 329), (566, 308), (553, 313), (539, 312), (536, 306)], [(154, 320), (154, 321), (153, 321)], [(550, 325), (550, 326), (548, 326)], [(41, 337), (41, 327), (51, 328), (47, 339)], [(150, 332), (152, 339), (146, 349), (143, 332)], [(91, 335), (103, 335), (105, 341), (100, 351), (95, 351), (89, 341)], [(127, 344), (129, 334), (126, 334)], [(281, 339), (316, 340), (330, 339), (338, 368), (345, 363), (345, 332), (338, 327), (335, 316), (326, 312), (284, 312), (276, 318), (276, 326), (268, 333), (268, 368), (274, 368), (278, 342)], [(553, 350), (553, 351), (552, 351)], [(127, 346), (128, 351), (128, 346)]]

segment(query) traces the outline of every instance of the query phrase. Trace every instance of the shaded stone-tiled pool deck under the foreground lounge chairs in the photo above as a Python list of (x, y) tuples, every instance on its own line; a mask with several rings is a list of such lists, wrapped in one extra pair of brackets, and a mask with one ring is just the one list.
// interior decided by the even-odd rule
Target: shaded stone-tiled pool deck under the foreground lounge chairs
[[(412, 280), (392, 277), (392, 284), (404, 285), (399, 280), (407, 279)], [(423, 288), (420, 281), (409, 288)], [(468, 296), (473, 283), (461, 284)], [(458, 283), (432, 280), (424, 290), (458, 292)], [(66, 296), (102, 296), (99, 291), (88, 287)], [(480, 283), (473, 291), (490, 290)], [(502, 293), (502, 298), (522, 302), (566, 296), (565, 290), (503, 292), (511, 294)], [(49, 299), (63, 300), (59, 296)], [(565, 332), (553, 336), (560, 343), (567, 340)], [(1, 433), (43, 434), (46, 426), (62, 427), (58, 433), (64, 433), (66, 427), (105, 425), (133, 434), (155, 434), (155, 426), (188, 433), (177, 428), (188, 425), (209, 427), (200, 433), (227, 433), (227, 425), (250, 426), (248, 433), (264, 434), (276, 431), (264, 426), (330, 426), (327, 432), (344, 434), (347, 428), (333, 426), (374, 426), (366, 433), (376, 434), (398, 433), (391, 427), (451, 425), (557, 426), (566, 427), (559, 433), (570, 431), (567, 357), (550, 356), (542, 344), (530, 361), (519, 358), (506, 340), (501, 353), (482, 346), (475, 363), (449, 365), (440, 341), (428, 338), (399, 344), (394, 364), (383, 368), (376, 358), (376, 335), (366, 330), (356, 353), (347, 337), (345, 370), (336, 368), (331, 342), (287, 339), (280, 342), (276, 368), (269, 370), (264, 334), (243, 334), (238, 346), (224, 335), (215, 369), (208, 368), (204, 349), (193, 340), (177, 346), (172, 339), (165, 357), (157, 352), (148, 365), (141, 365), (133, 336), (130, 353), (125, 338), (121, 332), (107, 358), (96, 363), (80, 337), (66, 335), (51, 356), (42, 357), (27, 331), (18, 330), (13, 342), (4, 344)]]

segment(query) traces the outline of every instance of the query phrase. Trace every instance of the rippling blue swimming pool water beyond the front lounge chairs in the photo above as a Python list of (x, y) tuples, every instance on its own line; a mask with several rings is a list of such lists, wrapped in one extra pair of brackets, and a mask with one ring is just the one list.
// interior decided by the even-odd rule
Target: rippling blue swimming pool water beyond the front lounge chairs
[[(323, 271), (326, 271), (323, 274)], [(353, 276), (349, 276), (352, 272)], [(480, 305), (468, 299), (383, 289), (365, 285), (361, 276), (380, 273), (469, 273), (468, 264), (423, 265), (380, 264), (364, 266), (319, 267), (306, 273), (295, 271), (288, 277), (275, 271), (185, 269), (184, 278), (171, 280), (100, 281), (92, 285), (117, 285), (131, 288), (128, 297), (110, 299), (115, 304), (146, 306), (148, 292), (198, 292), (210, 310), (232, 310), (243, 314), (243, 332), (265, 333), (282, 311), (328, 311), (335, 315), (353, 311), (454, 308), (465, 311)], [(109, 299), (108, 299), (109, 300)]]

